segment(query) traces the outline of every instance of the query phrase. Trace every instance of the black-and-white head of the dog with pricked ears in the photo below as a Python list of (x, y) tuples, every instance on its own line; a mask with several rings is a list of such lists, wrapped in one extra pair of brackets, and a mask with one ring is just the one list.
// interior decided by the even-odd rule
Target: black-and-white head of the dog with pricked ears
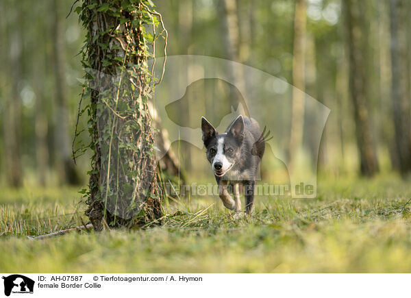
[(216, 129), (201, 117), (203, 142), (207, 149), (207, 159), (214, 175), (222, 177), (236, 166), (240, 160), (241, 144), (244, 138), (244, 119), (238, 116), (229, 125), (225, 133), (219, 134)]

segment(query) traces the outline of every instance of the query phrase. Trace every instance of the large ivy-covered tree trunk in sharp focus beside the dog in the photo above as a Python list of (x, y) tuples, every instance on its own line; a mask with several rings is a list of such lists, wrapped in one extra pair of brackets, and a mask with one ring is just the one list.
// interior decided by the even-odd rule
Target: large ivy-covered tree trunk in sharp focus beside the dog
[[(153, 15), (142, 1), (84, 0), (80, 18), (86, 28), (84, 65), (90, 91), (89, 205), (86, 214), (97, 230), (105, 226), (159, 223), (155, 134), (148, 108), (147, 39), (143, 14)], [(147, 30), (148, 31), (148, 30)]]

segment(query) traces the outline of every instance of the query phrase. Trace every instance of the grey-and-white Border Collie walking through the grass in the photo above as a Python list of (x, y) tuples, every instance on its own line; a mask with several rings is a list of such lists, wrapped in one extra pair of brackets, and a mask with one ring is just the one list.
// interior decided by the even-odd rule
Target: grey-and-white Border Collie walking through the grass
[[(238, 116), (223, 134), (201, 117), (203, 142), (207, 159), (219, 184), (219, 196), (226, 208), (240, 212), (239, 184), (244, 186), (245, 212), (253, 211), (254, 187), (258, 177), (258, 166), (264, 154), (264, 136), (257, 121)], [(227, 185), (233, 186), (234, 199)]]

